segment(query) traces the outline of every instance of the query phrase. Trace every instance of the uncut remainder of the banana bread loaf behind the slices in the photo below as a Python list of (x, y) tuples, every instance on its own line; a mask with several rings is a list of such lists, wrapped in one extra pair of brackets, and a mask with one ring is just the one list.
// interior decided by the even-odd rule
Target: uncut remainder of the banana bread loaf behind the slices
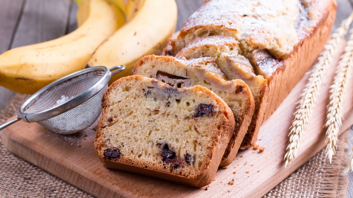
[(315, 62), (330, 36), (336, 9), (335, 0), (207, 0), (164, 51), (181, 56), (179, 51), (197, 38), (233, 37), (239, 47), (221, 51), (237, 51), (256, 76), (267, 80), (268, 100), (259, 118), (266, 120)]

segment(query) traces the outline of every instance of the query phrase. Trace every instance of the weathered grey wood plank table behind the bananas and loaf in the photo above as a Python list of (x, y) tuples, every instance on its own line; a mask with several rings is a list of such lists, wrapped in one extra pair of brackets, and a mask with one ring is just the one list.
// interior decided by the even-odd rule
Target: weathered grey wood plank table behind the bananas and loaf
[[(177, 30), (179, 30), (184, 21), (203, 4), (204, 0), (176, 1), (178, 4)], [(353, 10), (353, 0), (337, 0), (337, 2), (338, 10), (334, 29)], [(14, 47), (47, 41), (73, 31), (77, 27), (76, 10), (76, 4), (71, 0), (1, 0), (0, 54)], [(0, 87), (0, 110), (6, 107), (15, 94), (15, 92)], [(352, 146), (352, 141), (350, 146)], [(353, 197), (353, 174), (349, 173), (348, 177), (347, 197)], [(35, 187), (31, 190), (35, 190)]]

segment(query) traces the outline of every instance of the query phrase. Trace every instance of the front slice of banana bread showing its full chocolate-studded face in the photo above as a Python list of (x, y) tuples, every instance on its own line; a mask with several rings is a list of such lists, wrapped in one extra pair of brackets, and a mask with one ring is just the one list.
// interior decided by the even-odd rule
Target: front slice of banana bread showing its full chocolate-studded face
[(104, 166), (195, 187), (213, 180), (235, 125), (209, 89), (140, 75), (110, 85), (102, 108), (94, 146)]

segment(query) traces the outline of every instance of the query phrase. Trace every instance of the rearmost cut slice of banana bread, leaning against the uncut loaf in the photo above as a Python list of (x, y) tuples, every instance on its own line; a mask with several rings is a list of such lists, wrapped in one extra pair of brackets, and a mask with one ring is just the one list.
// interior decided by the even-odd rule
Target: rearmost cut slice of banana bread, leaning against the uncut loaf
[(238, 41), (233, 37), (210, 36), (195, 38), (175, 57), (193, 60), (209, 57), (215, 59), (216, 66), (225, 74), (228, 80), (241, 79), (249, 86), (255, 100), (255, 112), (251, 124), (244, 137), (241, 148), (249, 148), (257, 140), (260, 126), (263, 122), (269, 88), (267, 80), (262, 75), (256, 75), (249, 60), (239, 54)]

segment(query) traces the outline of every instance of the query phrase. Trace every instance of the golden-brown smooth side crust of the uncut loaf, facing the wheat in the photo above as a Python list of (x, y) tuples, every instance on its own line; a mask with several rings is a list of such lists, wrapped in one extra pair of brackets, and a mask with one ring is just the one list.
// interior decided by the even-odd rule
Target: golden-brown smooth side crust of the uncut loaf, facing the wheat
[[(319, 4), (318, 2), (313, 3)], [(281, 67), (277, 68), (268, 78), (270, 93), (264, 120), (273, 114), (300, 78), (312, 66), (329, 39), (335, 21), (337, 4), (335, 1), (329, 1), (329, 4), (323, 2), (323, 5), (326, 7), (321, 10), (319, 16), (322, 18), (317, 23), (317, 27), (305, 35), (306, 37), (300, 41), (293, 54), (281, 60)]]

